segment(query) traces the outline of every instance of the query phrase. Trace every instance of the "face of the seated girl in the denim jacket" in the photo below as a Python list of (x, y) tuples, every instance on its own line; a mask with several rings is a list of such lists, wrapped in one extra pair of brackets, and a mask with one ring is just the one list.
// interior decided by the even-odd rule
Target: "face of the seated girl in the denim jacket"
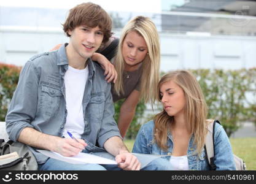
[(163, 109), (169, 116), (177, 116), (184, 113), (185, 109), (185, 94), (182, 88), (173, 80), (163, 83), (160, 87), (161, 102)]

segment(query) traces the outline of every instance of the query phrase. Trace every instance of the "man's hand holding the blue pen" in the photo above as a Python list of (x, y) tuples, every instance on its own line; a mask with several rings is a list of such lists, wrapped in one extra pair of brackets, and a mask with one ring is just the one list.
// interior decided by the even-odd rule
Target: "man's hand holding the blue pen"
[(82, 139), (77, 139), (79, 142), (71, 138), (57, 139), (53, 151), (60, 153), (63, 156), (76, 156), (82, 151), (87, 144)]

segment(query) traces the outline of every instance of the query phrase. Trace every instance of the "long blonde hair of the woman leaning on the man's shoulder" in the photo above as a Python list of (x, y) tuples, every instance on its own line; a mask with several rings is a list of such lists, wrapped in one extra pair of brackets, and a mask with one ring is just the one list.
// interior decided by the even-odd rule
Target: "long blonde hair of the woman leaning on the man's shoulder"
[(115, 56), (115, 69), (117, 70), (118, 78), (115, 82), (114, 89), (117, 94), (124, 93), (123, 91), (123, 71), (125, 59), (122, 55), (123, 40), (130, 31), (136, 31), (141, 35), (147, 44), (148, 52), (142, 62), (142, 76), (140, 86), (140, 98), (144, 102), (150, 101), (151, 104), (157, 99), (157, 91), (152, 90), (157, 88), (159, 80), (160, 68), (160, 43), (157, 33), (157, 28), (152, 20), (148, 17), (138, 16), (130, 20), (123, 28), (117, 55)]

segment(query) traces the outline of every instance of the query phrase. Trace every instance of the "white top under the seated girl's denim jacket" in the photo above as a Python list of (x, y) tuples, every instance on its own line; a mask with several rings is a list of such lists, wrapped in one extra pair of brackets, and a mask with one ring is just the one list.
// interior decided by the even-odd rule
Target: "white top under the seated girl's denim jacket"
[(171, 156), (170, 163), (173, 166), (173, 170), (188, 170), (188, 157), (184, 156)]

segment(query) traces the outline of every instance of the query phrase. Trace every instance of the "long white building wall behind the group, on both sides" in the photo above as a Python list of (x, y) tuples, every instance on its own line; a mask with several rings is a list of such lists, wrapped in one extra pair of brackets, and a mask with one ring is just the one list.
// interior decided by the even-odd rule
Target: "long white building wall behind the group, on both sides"
[[(159, 34), (161, 71), (256, 67), (256, 37)], [(0, 62), (22, 66), (31, 56), (68, 40), (59, 29), (0, 27)]]

